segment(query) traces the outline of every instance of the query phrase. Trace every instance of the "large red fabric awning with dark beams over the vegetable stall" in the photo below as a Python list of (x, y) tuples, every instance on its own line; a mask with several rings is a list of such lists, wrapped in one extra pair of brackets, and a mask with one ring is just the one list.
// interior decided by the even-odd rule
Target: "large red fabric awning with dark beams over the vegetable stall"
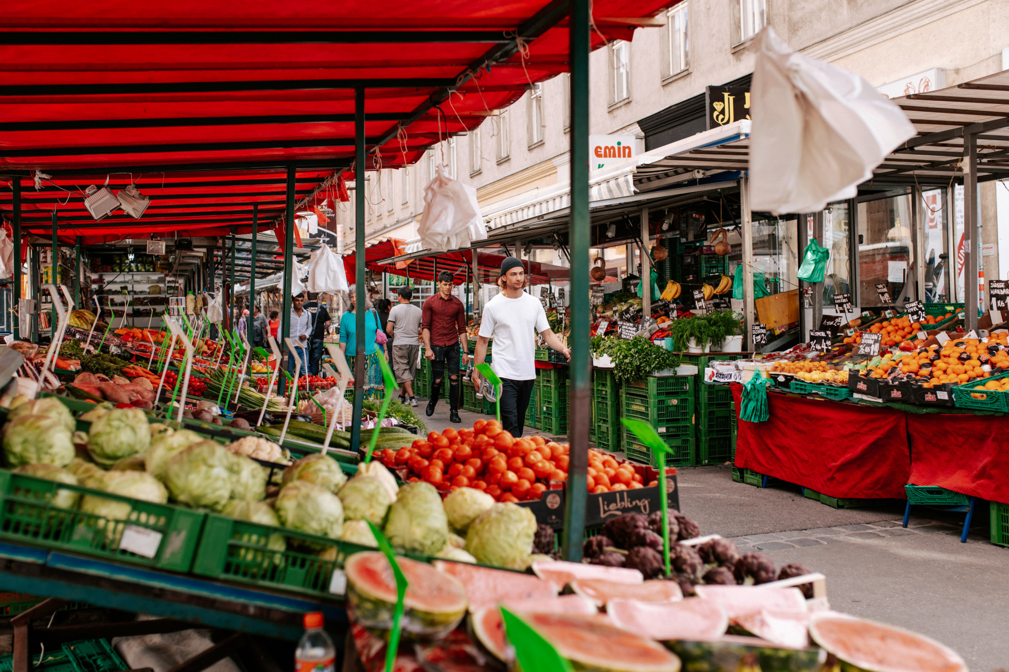
[[(592, 44), (631, 39), (677, 0), (595, 0)], [(248, 231), (353, 157), (365, 89), (367, 167), (416, 162), (530, 82), (567, 68), (566, 0), (345, 3), (51, 0), (4, 7), (0, 180), (20, 178), (23, 228), (89, 240)], [(643, 20), (645, 19), (645, 20)], [(35, 190), (38, 169), (52, 175)], [(111, 175), (111, 176), (110, 176)], [(349, 177), (349, 173), (347, 173)], [(96, 223), (82, 191), (109, 177), (150, 196), (139, 221)], [(11, 192), (0, 189), (9, 219)], [(66, 230), (63, 227), (67, 227)], [(199, 233), (197, 233), (199, 232)]]

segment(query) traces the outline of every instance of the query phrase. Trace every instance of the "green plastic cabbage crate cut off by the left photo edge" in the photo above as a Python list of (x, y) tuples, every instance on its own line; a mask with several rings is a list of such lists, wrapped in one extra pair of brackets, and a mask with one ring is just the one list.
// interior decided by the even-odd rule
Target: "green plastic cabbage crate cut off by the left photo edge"
[[(104, 515), (53, 504), (58, 497), (74, 499), (74, 494), (106, 500)], [(183, 572), (193, 564), (206, 518), (192, 509), (6, 469), (0, 469), (0, 539)]]

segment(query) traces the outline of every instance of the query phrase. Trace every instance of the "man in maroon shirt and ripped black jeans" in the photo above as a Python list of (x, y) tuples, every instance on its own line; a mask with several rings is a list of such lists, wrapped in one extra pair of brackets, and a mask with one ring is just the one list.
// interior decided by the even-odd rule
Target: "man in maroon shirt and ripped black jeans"
[(421, 329), (424, 334), (425, 357), (431, 360), (434, 384), (428, 401), (427, 414), (430, 417), (441, 396), (441, 384), (448, 369), (448, 419), (462, 422), (459, 417), (459, 346), (462, 346), (461, 364), (469, 358), (469, 342), (466, 339), (466, 306), (452, 295), (452, 274), (442, 271), (438, 274), (438, 293), (424, 302), (421, 313)]

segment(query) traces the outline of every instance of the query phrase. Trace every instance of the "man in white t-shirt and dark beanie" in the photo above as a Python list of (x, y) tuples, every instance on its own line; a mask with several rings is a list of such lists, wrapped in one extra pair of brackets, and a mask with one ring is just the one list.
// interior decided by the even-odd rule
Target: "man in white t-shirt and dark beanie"
[[(516, 438), (522, 436), (529, 398), (536, 382), (535, 331), (540, 332), (548, 346), (571, 358), (571, 351), (550, 328), (543, 304), (523, 291), (526, 283), (526, 269), (521, 260), (508, 257), (501, 262), (497, 285), (502, 291), (483, 307), (474, 358), (474, 366), (483, 364), (487, 341), (493, 335), (494, 357), (490, 367), (501, 379), (501, 427)], [(476, 372), (473, 373), (473, 385), (480, 389)]]

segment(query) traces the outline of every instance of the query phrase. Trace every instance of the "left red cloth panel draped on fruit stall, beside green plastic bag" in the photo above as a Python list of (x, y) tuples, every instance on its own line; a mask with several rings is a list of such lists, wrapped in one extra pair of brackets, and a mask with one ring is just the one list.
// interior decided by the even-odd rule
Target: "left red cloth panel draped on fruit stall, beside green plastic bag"
[[(733, 385), (737, 413), (742, 392)], [(767, 400), (767, 421), (739, 423), (736, 466), (828, 497), (905, 498), (911, 472), (906, 413), (774, 392)]]

